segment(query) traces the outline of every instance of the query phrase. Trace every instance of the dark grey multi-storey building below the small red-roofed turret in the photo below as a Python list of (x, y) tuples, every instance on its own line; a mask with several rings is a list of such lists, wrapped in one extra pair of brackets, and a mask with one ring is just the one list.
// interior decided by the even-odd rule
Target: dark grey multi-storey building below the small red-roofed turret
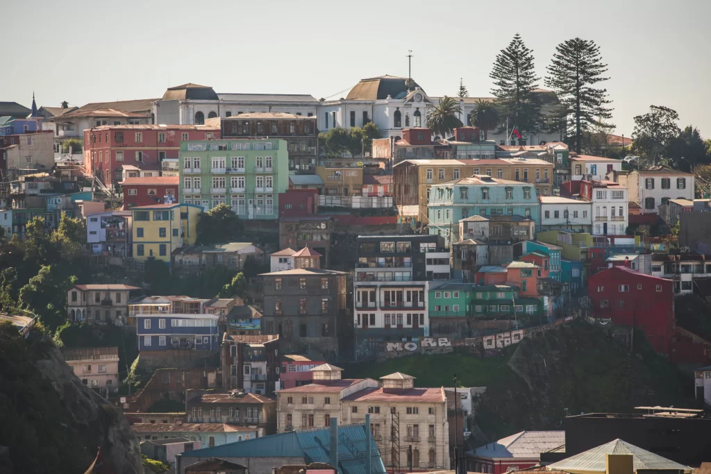
[(338, 339), (350, 326), (343, 271), (293, 269), (261, 274), (262, 332), (338, 353)]

